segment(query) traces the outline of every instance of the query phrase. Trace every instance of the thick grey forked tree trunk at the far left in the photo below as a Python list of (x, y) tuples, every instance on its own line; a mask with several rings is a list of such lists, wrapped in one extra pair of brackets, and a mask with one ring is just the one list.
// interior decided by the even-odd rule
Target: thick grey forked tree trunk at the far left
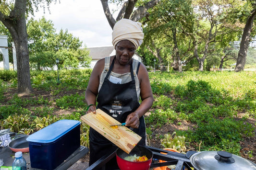
[(15, 0), (10, 16), (4, 16), (0, 12), (0, 21), (12, 34), (16, 48), (18, 92), (28, 94), (33, 89), (30, 80), (25, 9), (26, 0)]

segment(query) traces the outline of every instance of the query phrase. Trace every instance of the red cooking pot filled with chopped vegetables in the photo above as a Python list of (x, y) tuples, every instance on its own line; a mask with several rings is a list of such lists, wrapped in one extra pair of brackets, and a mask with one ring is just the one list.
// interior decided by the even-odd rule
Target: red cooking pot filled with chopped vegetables
[(129, 154), (120, 148), (116, 150), (120, 170), (149, 170), (152, 158), (152, 151), (143, 146), (135, 146)]

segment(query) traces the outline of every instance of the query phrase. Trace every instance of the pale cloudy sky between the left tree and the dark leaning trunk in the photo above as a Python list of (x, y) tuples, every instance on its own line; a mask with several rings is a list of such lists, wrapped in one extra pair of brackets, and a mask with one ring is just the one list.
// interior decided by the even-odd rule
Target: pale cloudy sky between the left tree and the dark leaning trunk
[(34, 19), (45, 16), (51, 20), (57, 33), (68, 30), (83, 41), (83, 47), (111, 46), (112, 29), (104, 14), (100, 0), (57, 0), (46, 9), (35, 12)]

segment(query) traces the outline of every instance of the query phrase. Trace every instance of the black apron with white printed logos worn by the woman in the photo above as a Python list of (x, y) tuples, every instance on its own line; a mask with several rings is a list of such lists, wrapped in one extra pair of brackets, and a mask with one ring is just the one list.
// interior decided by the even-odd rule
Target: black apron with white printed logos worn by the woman
[[(102, 86), (98, 92), (97, 108), (101, 109), (105, 113), (108, 113), (111, 117), (124, 123), (127, 115), (133, 113), (138, 107), (139, 102), (137, 100), (136, 86), (134, 80), (133, 63), (130, 64), (130, 72), (132, 81), (124, 84), (112, 83), (108, 78), (111, 70), (114, 66), (115, 58), (112, 61), (110, 69), (102, 83)], [(144, 116), (140, 118), (140, 125), (138, 129), (130, 128), (136, 134), (142, 137), (138, 145), (146, 145), (146, 126)], [(89, 144), (90, 144), (90, 161), (89, 165), (92, 165), (98, 159), (105, 154), (113, 152), (117, 147), (110, 142), (106, 137), (100, 135), (96, 130), (90, 128), (89, 131)], [(113, 160), (115, 161), (115, 160)], [(113, 162), (109, 164), (114, 164)], [(115, 162), (116, 164), (116, 162)], [(106, 165), (106, 169), (107, 165)], [(113, 168), (109, 168), (114, 170)]]

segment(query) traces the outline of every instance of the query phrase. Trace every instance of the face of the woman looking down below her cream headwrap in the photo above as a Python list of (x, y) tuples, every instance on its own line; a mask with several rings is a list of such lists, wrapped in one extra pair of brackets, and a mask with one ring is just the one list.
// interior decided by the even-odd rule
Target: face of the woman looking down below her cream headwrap
[(116, 45), (116, 59), (120, 65), (127, 65), (130, 63), (135, 53), (135, 45), (129, 40), (122, 40)]

